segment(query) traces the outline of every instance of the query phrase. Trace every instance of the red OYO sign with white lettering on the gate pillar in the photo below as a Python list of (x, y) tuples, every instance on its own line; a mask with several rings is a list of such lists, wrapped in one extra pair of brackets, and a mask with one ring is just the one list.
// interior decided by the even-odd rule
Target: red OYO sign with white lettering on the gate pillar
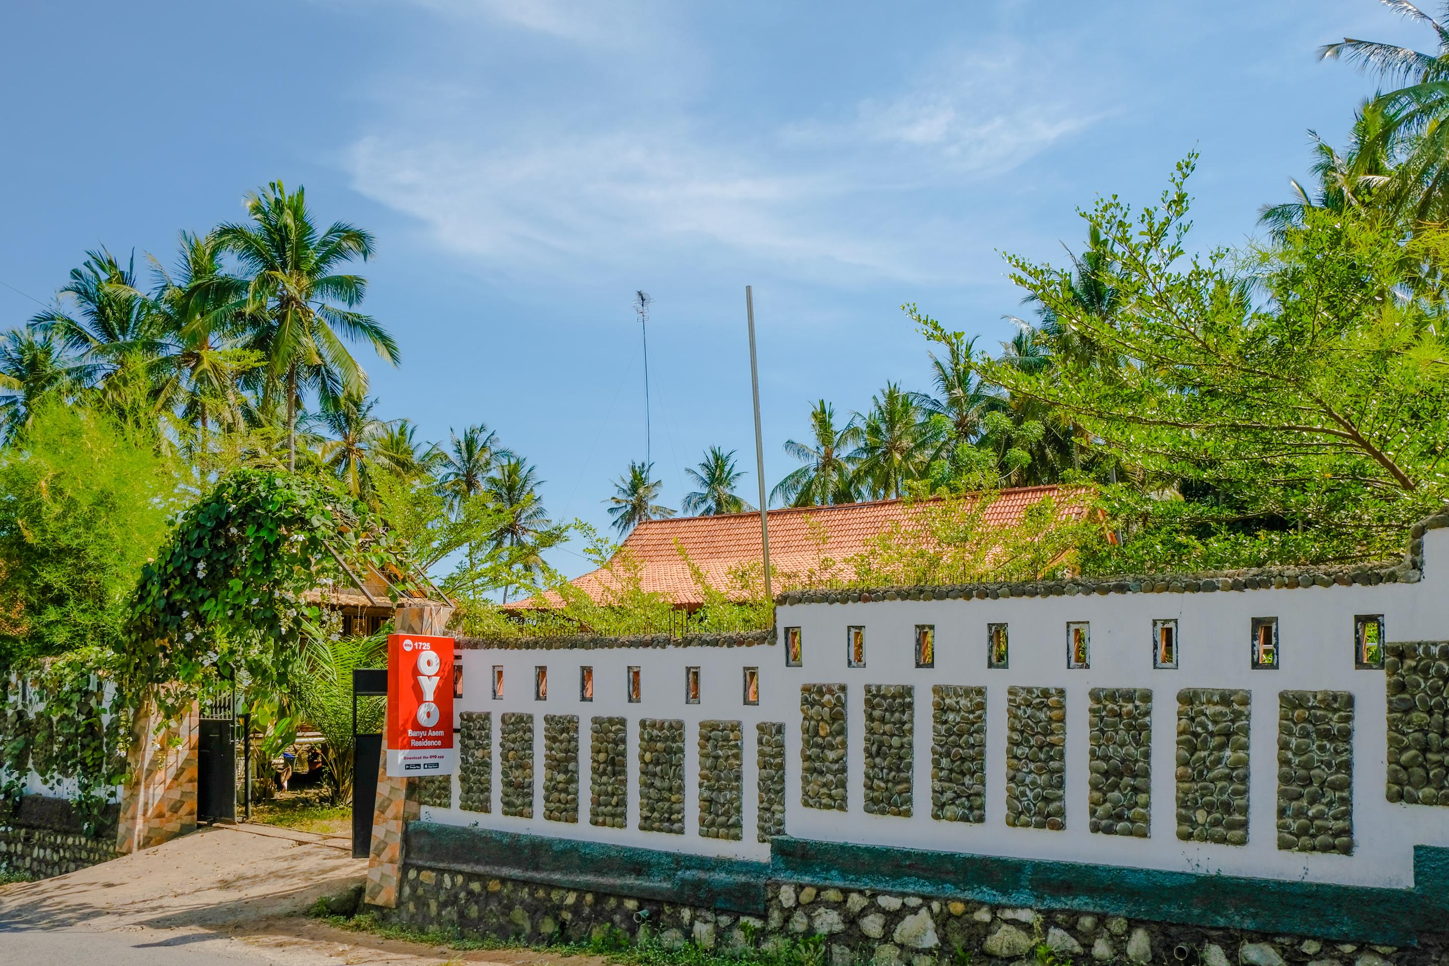
[(452, 775), (454, 639), (390, 634), (387, 639), (387, 773)]

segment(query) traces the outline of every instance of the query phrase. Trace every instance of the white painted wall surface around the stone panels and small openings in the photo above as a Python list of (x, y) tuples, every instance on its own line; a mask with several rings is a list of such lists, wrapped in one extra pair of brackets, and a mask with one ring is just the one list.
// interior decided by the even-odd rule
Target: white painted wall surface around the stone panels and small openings
[[(532, 711), (580, 715), (580, 821), (543, 821), (543, 723), (535, 723), (535, 815), (507, 818), (498, 811), (497, 743), (493, 721), (493, 812), (425, 810), (425, 817), (454, 824), (614, 841), (703, 854), (768, 857), (755, 841), (756, 721), (785, 723), (788, 834), (859, 844), (898, 844), (1020, 859), (1055, 859), (1172, 869), (1184, 872), (1358, 885), (1413, 885), (1413, 847), (1449, 846), (1449, 808), (1392, 805), (1384, 798), (1385, 691), (1382, 671), (1358, 671), (1353, 662), (1353, 617), (1384, 614), (1387, 640), (1449, 639), (1449, 530), (1424, 539), (1424, 579), (1379, 587), (1219, 591), (1210, 594), (1110, 594), (998, 601), (878, 601), (868, 604), (798, 604), (780, 607), (780, 627), (798, 626), (803, 666), (785, 668), (782, 644), (755, 647), (669, 647), (594, 650), (467, 650), (467, 691), (461, 710)], [(1175, 617), (1178, 669), (1153, 669), (1152, 621)], [(1279, 668), (1249, 666), (1253, 617), (1277, 617)], [(1091, 621), (1091, 668), (1066, 668), (1066, 623)], [(987, 669), (987, 624), (1010, 627), (1010, 668)], [(846, 666), (846, 627), (867, 629), (867, 666)], [(936, 666), (914, 666), (916, 624), (936, 626)], [(506, 697), (490, 697), (491, 668), (503, 665)], [(533, 668), (549, 668), (549, 697), (533, 700)], [(578, 700), (578, 668), (594, 668), (596, 698)], [(643, 669), (643, 701), (626, 702), (626, 668)], [(701, 701), (684, 702), (684, 669), (701, 668)], [(743, 705), (742, 669), (759, 666), (761, 701)], [(800, 688), (843, 682), (849, 688), (849, 811), (800, 805)], [(867, 684), (916, 686), (914, 817), (871, 815), (864, 810), (862, 759)], [(987, 688), (987, 821), (980, 826), (930, 818), (930, 686)], [(1006, 815), (1007, 688), (1066, 689), (1066, 828), (1009, 828)], [(1091, 688), (1151, 688), (1152, 708), (1152, 836), (1146, 840), (1088, 831), (1087, 692)], [(1249, 844), (1246, 847), (1184, 843), (1175, 836), (1177, 692), (1182, 688), (1246, 688), (1252, 692), (1249, 778)], [(1278, 692), (1335, 689), (1355, 695), (1353, 831), (1355, 854), (1300, 854), (1277, 847)], [(588, 720), (629, 720), (629, 827), (588, 824)], [(685, 834), (643, 833), (638, 824), (638, 720), (685, 721)], [(698, 721), (740, 720), (745, 724), (745, 839), (727, 843), (701, 839), (698, 821)], [(456, 801), (456, 795), (455, 795)]]

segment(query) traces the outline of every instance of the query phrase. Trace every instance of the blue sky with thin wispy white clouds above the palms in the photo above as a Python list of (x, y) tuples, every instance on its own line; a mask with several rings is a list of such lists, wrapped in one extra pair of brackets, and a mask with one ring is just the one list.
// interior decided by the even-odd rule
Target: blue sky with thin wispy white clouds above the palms
[(170, 264), (300, 184), (378, 239), (384, 419), (485, 423), (552, 517), (606, 529), (646, 446), (645, 290), (662, 503), (713, 445), (758, 503), (745, 285), (774, 487), (816, 400), (929, 388), (903, 303), (1010, 339), (1003, 255), (1064, 264), (1094, 197), (1151, 204), (1197, 151), (1194, 246), (1249, 240), (1374, 91), (1317, 59), (1345, 35), (1432, 49), (1372, 0), (3, 4), (0, 327), (85, 249)]

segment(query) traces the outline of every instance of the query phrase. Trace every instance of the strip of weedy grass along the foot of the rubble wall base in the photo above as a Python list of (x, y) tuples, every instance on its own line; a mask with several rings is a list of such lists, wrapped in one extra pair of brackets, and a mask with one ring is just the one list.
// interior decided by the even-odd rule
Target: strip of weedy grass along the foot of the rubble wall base
[(810, 936), (807, 938), (781, 943), (771, 949), (758, 949), (752, 930), (746, 930), (748, 943), (743, 949), (729, 953), (704, 950), (693, 943), (681, 949), (665, 949), (658, 940), (646, 940), (632, 944), (629, 934), (613, 928), (609, 934), (588, 943), (522, 943), (501, 938), (471, 938), (458, 930), (423, 930), (413, 925), (396, 925), (381, 921), (375, 912), (362, 912), (348, 918), (342, 915), (325, 915), (322, 905), (313, 910), (313, 915), (323, 923), (351, 933), (367, 933), (378, 938), (400, 940), (404, 943), (419, 943), (422, 946), (443, 947), (458, 952), (474, 950), (532, 950), (549, 953), (559, 959), (572, 956), (598, 956), (619, 966), (740, 966), (752, 963), (759, 966), (823, 966), (824, 937)]

